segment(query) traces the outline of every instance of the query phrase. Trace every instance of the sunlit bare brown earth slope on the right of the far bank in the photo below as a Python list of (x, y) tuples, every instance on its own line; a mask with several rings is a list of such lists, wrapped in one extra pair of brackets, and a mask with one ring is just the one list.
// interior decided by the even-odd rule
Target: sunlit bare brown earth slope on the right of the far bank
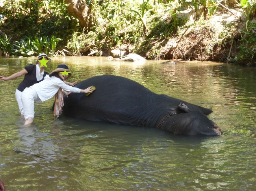
[(232, 61), (237, 55), (246, 22), (241, 9), (232, 9), (232, 12), (237, 16), (220, 10), (206, 21), (188, 22), (169, 40), (153, 42), (145, 57), (158, 60)]

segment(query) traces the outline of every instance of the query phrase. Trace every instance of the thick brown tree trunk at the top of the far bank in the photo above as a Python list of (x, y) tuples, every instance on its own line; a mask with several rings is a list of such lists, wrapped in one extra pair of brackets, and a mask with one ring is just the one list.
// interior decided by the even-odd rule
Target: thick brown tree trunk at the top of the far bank
[(79, 25), (89, 31), (91, 27), (91, 6), (86, 4), (86, 0), (65, 0), (69, 4), (67, 11), (73, 13), (79, 20)]

